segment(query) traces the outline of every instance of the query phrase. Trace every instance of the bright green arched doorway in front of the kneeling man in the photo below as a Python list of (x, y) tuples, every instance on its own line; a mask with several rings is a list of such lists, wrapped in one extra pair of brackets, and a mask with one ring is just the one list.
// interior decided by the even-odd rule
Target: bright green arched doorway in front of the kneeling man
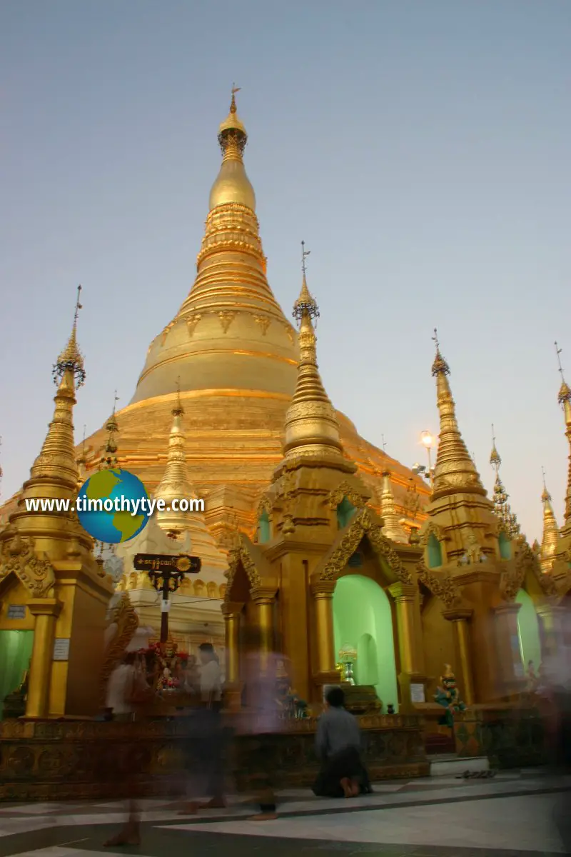
[(370, 578), (348, 574), (339, 578), (333, 595), (335, 649), (357, 650), (355, 681), (374, 685), (383, 701), (398, 710), (395, 640), (389, 597)]

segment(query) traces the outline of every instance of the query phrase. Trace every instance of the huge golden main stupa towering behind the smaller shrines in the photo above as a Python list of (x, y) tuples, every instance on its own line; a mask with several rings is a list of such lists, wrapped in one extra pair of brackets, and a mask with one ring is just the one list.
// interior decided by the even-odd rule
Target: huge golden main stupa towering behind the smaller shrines
[[(241, 530), (253, 535), (256, 529), (259, 497), (282, 458), (300, 354), (298, 333), (266, 279), (236, 92), (218, 129), (222, 165), (211, 189), (196, 279), (175, 318), (152, 341), (133, 399), (116, 414), (120, 464), (152, 494), (164, 474), (171, 411), (180, 394), (193, 486), (205, 499), (206, 523), (224, 551), (236, 518)], [(335, 418), (345, 454), (372, 488), (378, 511), (378, 474), (389, 469), (397, 512), (407, 518), (411, 478), (423, 501), (425, 483), (360, 438), (343, 414), (336, 411)], [(87, 438), (88, 471), (98, 466), (104, 443), (104, 428)]]

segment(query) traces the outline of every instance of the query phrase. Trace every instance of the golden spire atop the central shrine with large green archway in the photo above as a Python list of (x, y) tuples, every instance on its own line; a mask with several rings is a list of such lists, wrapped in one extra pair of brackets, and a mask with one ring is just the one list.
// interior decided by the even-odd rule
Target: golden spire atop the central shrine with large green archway
[(300, 326), (300, 362), (294, 397), (286, 414), (283, 452), (287, 458), (323, 452), (339, 455), (342, 452), (339, 424), (318, 371), (317, 338), (312, 320), (318, 318), (319, 310), (307, 288), (306, 257), (309, 252), (302, 241), (301, 291), (293, 312)]

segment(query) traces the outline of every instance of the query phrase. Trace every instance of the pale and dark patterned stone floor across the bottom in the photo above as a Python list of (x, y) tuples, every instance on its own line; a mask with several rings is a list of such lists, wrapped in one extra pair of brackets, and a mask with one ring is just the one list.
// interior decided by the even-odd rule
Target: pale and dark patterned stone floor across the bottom
[(0, 857), (553, 857), (569, 853), (554, 818), (571, 809), (570, 797), (571, 776), (536, 769), (491, 780), (383, 782), (354, 800), (288, 791), (280, 817), (264, 823), (249, 820), (253, 806), (242, 799), (194, 817), (167, 800), (144, 800), (140, 847), (116, 852), (102, 842), (122, 824), (121, 803), (0, 804)]

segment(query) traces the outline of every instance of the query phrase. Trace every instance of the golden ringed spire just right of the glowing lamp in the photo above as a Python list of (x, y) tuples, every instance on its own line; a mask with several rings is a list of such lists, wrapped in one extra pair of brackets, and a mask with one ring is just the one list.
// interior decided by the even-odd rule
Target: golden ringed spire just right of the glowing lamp
[(440, 436), (437, 463), (434, 468), (432, 500), (449, 494), (485, 494), (479, 473), (458, 428), (455, 402), (448, 381), (450, 369), (440, 353), (436, 328), (433, 340), (436, 345), (436, 357), (432, 363), (432, 375), (437, 380)]

